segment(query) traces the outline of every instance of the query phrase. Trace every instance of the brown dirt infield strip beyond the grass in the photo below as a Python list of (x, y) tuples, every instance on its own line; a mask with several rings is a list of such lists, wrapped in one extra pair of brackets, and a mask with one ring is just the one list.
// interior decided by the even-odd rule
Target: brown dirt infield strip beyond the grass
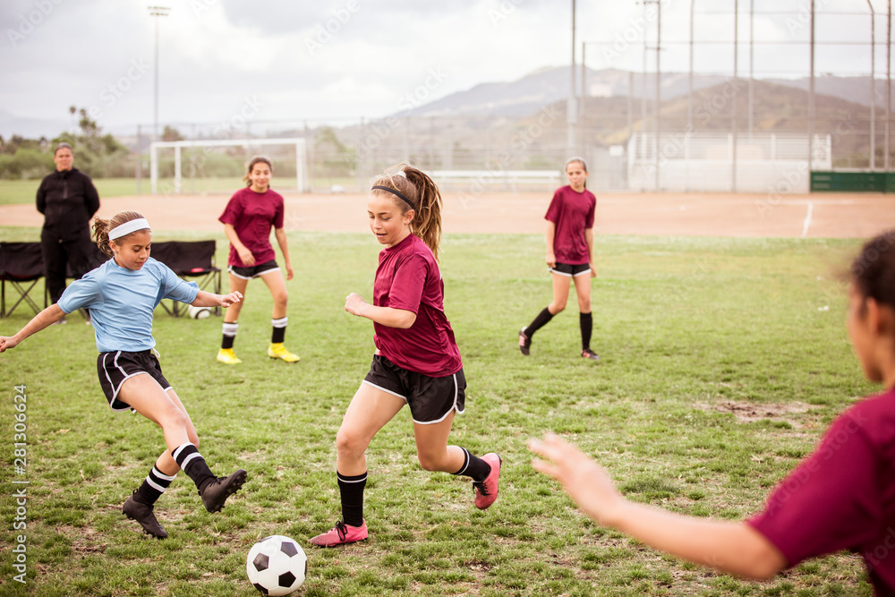
[[(286, 193), (286, 229), (366, 232), (366, 196)], [(544, 231), (550, 193), (445, 193), (443, 227), (451, 233)], [(142, 195), (102, 200), (101, 217), (132, 209), (157, 230), (219, 231), (227, 195)], [(31, 204), (0, 206), (3, 226), (40, 226)], [(895, 196), (601, 193), (597, 234), (864, 238), (895, 228)]]

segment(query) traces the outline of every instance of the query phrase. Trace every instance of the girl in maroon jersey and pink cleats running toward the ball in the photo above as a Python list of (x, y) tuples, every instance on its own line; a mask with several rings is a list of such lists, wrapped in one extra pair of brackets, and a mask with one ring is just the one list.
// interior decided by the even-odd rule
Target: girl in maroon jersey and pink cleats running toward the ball
[(427, 471), (473, 478), (475, 506), (498, 497), (500, 457), (479, 458), (448, 446), (456, 413), (464, 412), (466, 380), (454, 331), (444, 311), (438, 266), (441, 195), (429, 176), (402, 164), (373, 184), (367, 213), (379, 252), (373, 303), (349, 294), (345, 311), (373, 321), (376, 353), (370, 372), (348, 405), (336, 436), (336, 477), (342, 520), (311, 543), (333, 547), (367, 538), (364, 456), (377, 431), (410, 406), (416, 456)]

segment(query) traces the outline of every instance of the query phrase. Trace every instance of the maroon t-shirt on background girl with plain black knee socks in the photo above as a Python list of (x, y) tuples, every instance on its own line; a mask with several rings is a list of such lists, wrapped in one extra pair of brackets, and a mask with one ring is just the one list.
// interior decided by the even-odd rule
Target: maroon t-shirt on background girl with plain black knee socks
[(570, 185), (557, 189), (550, 201), (550, 208), (544, 219), (556, 225), (553, 237), (553, 254), (558, 263), (581, 265), (588, 263), (590, 253), (584, 230), (593, 227), (593, 213), (597, 209), (597, 198), (593, 193), (572, 190)]

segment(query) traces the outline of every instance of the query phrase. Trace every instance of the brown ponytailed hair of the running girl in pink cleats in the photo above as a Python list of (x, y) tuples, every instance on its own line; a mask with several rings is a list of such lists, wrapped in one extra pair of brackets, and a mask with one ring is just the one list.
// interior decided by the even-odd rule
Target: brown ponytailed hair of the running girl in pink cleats
[[(439, 245), (441, 244), (441, 192), (435, 182), (427, 175), (413, 166), (399, 164), (396, 174), (384, 174), (378, 176), (372, 186), (384, 186), (396, 191), (389, 193), (401, 207), (401, 214), (413, 209), (413, 221), (410, 223), (410, 232), (419, 236), (423, 243), (431, 249), (435, 260), (439, 259)], [(374, 189), (373, 192), (380, 192)], [(388, 191), (387, 191), (388, 192)]]

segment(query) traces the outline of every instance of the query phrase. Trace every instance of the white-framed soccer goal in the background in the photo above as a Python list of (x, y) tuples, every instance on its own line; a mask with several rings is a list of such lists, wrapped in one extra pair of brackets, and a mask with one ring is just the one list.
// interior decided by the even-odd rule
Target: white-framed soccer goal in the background
[(277, 189), (309, 191), (304, 139), (208, 139), (151, 143), (149, 177), (152, 194), (157, 195), (159, 187), (164, 193), (175, 194), (232, 192), (234, 184), (238, 185), (245, 174), (249, 160), (258, 154), (269, 158), (273, 164)]

